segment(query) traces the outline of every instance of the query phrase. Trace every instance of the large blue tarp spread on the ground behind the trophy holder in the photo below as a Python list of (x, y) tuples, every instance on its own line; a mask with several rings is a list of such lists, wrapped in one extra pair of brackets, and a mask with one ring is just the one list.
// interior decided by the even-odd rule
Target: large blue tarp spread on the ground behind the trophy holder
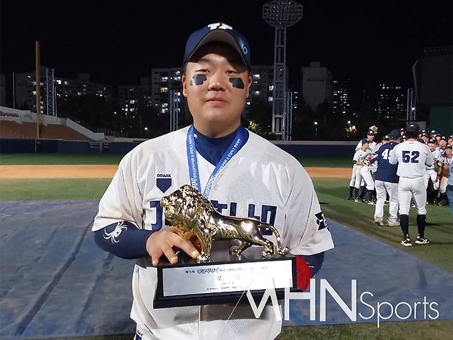
[[(128, 334), (131, 274), (134, 261), (100, 250), (90, 228), (97, 201), (21, 201), (0, 203), (0, 337), (27, 339)], [(370, 226), (370, 228), (376, 228)], [(453, 274), (359, 232), (330, 222), (335, 249), (326, 253), (316, 280), (316, 321), (309, 320), (309, 301), (291, 301), (284, 325), (351, 323), (327, 294), (326, 322), (319, 321), (320, 279), (326, 279), (350, 308), (351, 279), (357, 279), (357, 322), (387, 301), (412, 306), (407, 320), (424, 319), (423, 297), (453, 319)], [(427, 246), (429, 247), (429, 246)], [(428, 250), (428, 248), (427, 248)], [(414, 308), (414, 303), (417, 308)], [(399, 315), (409, 314), (400, 305)], [(381, 308), (387, 317), (390, 307)], [(427, 305), (428, 314), (436, 313)], [(383, 321), (383, 320), (381, 320)], [(399, 321), (393, 316), (389, 321)]]

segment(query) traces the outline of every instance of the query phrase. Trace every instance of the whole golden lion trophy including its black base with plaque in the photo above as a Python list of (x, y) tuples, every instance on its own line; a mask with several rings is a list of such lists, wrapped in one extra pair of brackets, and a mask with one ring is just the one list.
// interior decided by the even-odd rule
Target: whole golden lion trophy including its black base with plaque
[[(162, 259), (154, 308), (238, 303), (248, 299), (244, 292), (260, 299), (268, 288), (283, 299), (287, 288), (297, 290), (295, 257), (282, 247), (280, 234), (271, 224), (220, 214), (187, 185), (162, 197), (160, 206), (165, 219), (200, 255), (195, 260), (181, 251), (176, 264)], [(276, 246), (260, 229), (273, 233)]]

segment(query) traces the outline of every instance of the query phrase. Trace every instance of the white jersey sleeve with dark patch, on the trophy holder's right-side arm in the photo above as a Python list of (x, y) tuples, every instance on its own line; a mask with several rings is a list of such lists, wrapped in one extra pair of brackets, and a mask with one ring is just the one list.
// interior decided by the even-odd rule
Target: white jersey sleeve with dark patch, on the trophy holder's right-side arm
[(292, 254), (313, 255), (333, 248), (332, 235), (327, 226), (313, 183), (304, 168), (290, 177), (291, 192), (286, 201), (283, 246)]

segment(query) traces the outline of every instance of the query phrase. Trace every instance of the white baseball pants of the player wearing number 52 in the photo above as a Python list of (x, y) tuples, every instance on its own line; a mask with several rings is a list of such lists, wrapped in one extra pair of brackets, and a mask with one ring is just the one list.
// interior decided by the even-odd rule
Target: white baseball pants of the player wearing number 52
[(409, 214), (410, 201), (414, 198), (417, 214), (426, 214), (426, 188), (423, 176), (408, 178), (399, 177), (398, 201), (399, 214)]

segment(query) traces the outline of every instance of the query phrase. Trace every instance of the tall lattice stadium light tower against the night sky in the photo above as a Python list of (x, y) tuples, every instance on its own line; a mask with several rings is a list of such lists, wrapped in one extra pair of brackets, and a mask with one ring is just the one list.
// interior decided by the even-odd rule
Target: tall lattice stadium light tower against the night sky
[[(303, 6), (295, 1), (273, 0), (263, 5), (262, 17), (275, 27), (274, 83), (272, 101), (272, 132), (288, 136), (284, 129), (291, 128), (284, 123), (286, 99), (286, 28), (302, 19)], [(291, 135), (291, 133), (290, 133)]]

